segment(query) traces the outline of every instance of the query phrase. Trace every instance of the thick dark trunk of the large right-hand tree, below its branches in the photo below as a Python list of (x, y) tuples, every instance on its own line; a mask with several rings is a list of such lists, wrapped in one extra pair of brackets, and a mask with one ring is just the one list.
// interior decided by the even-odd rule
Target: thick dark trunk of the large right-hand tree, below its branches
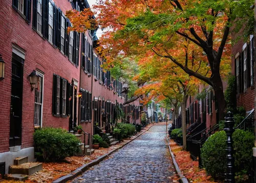
[(216, 105), (218, 105), (218, 117), (217, 118), (217, 123), (218, 120), (224, 120), (225, 117), (225, 107), (226, 107), (226, 101), (225, 101), (225, 97), (224, 97), (224, 91), (223, 91), (223, 84), (222, 84), (222, 80), (220, 75), (215, 74), (215, 77), (212, 78), (212, 81), (214, 83), (214, 95), (215, 95), (215, 101), (216, 101)]

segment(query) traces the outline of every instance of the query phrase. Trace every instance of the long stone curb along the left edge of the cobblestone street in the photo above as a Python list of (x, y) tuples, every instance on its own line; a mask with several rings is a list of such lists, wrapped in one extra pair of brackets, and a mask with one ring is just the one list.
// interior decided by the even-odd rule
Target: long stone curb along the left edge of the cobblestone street
[[(152, 125), (152, 126), (155, 126)], [(151, 126), (151, 127), (152, 127)], [(62, 183), (62, 182), (67, 182), (69, 180), (74, 179), (75, 177), (77, 177), (78, 175), (82, 174), (83, 172), (87, 171), (89, 168), (91, 168), (94, 165), (99, 164), (103, 159), (105, 159), (106, 157), (108, 157), (109, 155), (111, 155), (112, 153), (118, 151), (119, 149), (123, 148), (125, 145), (129, 144), (130, 142), (134, 141), (135, 139), (137, 139), (140, 135), (142, 135), (143, 133), (145, 133), (146, 131), (148, 131), (151, 127), (149, 127), (147, 130), (143, 131), (142, 133), (140, 133), (138, 136), (136, 136), (134, 139), (132, 139), (129, 142), (126, 142), (125, 144), (123, 144), (122, 146), (110, 151), (108, 154), (103, 154), (101, 156), (99, 156), (97, 159), (94, 159), (92, 162), (85, 164), (79, 168), (77, 168), (76, 170), (74, 170), (73, 172), (71, 172), (68, 175), (62, 176), (56, 180), (53, 181), (53, 183)]]

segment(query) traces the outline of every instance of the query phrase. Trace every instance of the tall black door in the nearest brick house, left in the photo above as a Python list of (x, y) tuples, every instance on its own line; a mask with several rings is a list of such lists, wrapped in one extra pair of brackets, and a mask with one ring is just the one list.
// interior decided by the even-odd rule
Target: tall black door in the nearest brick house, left
[(10, 147), (22, 145), (22, 91), (24, 59), (12, 54)]

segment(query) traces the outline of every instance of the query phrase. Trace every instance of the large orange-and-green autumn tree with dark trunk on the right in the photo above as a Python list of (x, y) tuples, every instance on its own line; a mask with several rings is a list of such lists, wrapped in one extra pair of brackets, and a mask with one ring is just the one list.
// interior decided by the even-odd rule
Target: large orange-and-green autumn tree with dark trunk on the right
[[(118, 54), (145, 56), (151, 50), (168, 58), (189, 76), (211, 85), (218, 101), (220, 119), (225, 99), (222, 75), (230, 65), (230, 27), (239, 31), (253, 17), (252, 0), (106, 0), (95, 6), (102, 28), (109, 28), (101, 43), (104, 55), (114, 60)], [(190, 40), (205, 57), (201, 65), (209, 67), (209, 75), (198, 67), (181, 63), (175, 53), (177, 39)], [(200, 65), (200, 64), (199, 64)]]

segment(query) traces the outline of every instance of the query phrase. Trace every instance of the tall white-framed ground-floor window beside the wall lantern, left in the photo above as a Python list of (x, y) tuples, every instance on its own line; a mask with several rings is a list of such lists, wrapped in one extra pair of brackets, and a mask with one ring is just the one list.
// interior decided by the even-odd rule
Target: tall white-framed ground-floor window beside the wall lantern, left
[(35, 89), (35, 105), (34, 105), (34, 125), (41, 126), (42, 122), (42, 98), (43, 98), (43, 84), (44, 84), (44, 75), (36, 72), (41, 77), (36, 83)]

